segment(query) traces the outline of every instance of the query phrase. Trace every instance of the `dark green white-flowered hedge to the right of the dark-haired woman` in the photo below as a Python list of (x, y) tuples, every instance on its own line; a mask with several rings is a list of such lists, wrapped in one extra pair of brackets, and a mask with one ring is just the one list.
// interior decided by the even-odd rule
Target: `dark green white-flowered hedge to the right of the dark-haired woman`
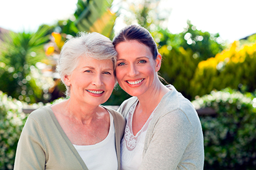
[(217, 116), (200, 116), (204, 133), (204, 169), (255, 169), (256, 98), (226, 88), (194, 100), (195, 108), (211, 107)]

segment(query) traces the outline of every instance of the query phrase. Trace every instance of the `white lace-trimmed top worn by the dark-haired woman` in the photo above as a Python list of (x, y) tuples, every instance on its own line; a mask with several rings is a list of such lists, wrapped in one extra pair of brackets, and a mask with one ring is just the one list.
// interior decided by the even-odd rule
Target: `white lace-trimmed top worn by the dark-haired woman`
[(147, 127), (154, 115), (154, 111), (149, 116), (144, 126), (134, 136), (132, 132), (132, 117), (134, 115), (135, 106), (138, 102), (130, 107), (129, 113), (126, 116), (126, 128), (124, 131), (124, 138), (121, 142), (121, 169), (122, 170), (135, 170), (139, 169), (142, 162), (142, 154), (144, 148), (145, 135)]

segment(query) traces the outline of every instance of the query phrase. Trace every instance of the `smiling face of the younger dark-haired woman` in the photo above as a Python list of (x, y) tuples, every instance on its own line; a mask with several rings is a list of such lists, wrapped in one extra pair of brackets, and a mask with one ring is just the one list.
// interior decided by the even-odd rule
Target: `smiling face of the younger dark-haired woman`
[(153, 55), (144, 44), (136, 40), (116, 45), (116, 77), (120, 87), (131, 96), (139, 97), (154, 87), (161, 58)]

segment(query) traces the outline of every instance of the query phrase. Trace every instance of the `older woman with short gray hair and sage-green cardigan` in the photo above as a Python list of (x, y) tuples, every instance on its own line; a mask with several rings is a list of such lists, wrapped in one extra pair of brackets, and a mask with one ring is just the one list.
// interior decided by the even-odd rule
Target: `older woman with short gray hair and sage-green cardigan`
[(116, 83), (116, 55), (111, 40), (95, 32), (64, 44), (57, 70), (70, 98), (29, 115), (14, 169), (120, 169), (125, 121), (101, 105)]

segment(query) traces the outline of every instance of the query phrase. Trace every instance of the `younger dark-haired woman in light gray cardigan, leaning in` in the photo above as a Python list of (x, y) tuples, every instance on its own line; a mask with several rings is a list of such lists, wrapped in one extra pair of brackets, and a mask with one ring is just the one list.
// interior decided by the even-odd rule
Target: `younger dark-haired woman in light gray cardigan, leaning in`
[(203, 169), (204, 140), (192, 104), (157, 72), (162, 57), (149, 31), (127, 26), (114, 37), (116, 77), (133, 96), (119, 110), (127, 120), (121, 169)]

